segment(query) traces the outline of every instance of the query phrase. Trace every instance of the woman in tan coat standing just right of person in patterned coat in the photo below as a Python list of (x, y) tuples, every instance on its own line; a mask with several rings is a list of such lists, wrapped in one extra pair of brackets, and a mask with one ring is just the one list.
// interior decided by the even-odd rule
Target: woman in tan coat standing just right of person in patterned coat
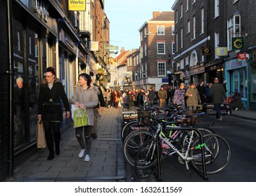
[(201, 102), (200, 94), (196, 89), (195, 83), (191, 83), (190, 87), (186, 90), (185, 93), (186, 97), (186, 106), (188, 106), (189, 110), (196, 110), (196, 107)]

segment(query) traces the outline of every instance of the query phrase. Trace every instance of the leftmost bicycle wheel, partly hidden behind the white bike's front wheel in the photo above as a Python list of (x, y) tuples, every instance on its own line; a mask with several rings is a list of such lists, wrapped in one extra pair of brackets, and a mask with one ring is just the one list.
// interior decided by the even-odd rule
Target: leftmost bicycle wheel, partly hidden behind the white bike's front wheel
[(141, 130), (131, 132), (125, 139), (123, 144), (124, 159), (134, 167), (134, 159), (139, 148), (143, 145), (144, 141), (148, 140), (148, 131)]

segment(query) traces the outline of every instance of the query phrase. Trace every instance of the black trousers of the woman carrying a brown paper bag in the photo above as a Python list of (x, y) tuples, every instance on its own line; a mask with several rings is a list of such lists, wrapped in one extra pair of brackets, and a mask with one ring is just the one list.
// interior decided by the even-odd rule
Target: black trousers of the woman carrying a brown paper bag
[(45, 139), (46, 139), (46, 144), (49, 149), (49, 152), (51, 154), (54, 154), (53, 151), (53, 138), (55, 142), (55, 148), (57, 151), (60, 150), (60, 123), (58, 122), (49, 122), (49, 121), (44, 121), (44, 131), (45, 131)]

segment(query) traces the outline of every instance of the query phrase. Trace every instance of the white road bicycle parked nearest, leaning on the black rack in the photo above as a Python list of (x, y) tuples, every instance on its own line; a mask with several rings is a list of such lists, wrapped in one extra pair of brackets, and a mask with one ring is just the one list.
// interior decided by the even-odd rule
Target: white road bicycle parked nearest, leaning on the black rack
[(188, 165), (191, 164), (194, 169), (203, 174), (204, 179), (207, 179), (206, 174), (216, 174), (228, 165), (231, 148), (223, 137), (213, 133), (202, 134), (197, 127), (170, 127), (172, 131), (182, 132), (183, 137), (177, 140), (162, 134), (165, 126), (167, 124), (162, 123), (156, 132), (148, 132), (150, 137), (137, 151), (134, 168), (139, 178), (148, 178), (156, 169), (160, 178), (163, 144), (167, 146), (165, 154), (177, 154), (179, 162), (186, 165), (188, 172), (190, 172)]

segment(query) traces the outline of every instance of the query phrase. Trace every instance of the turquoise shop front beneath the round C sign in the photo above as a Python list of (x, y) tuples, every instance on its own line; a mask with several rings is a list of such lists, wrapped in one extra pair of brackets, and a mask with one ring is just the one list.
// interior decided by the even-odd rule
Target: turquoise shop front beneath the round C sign
[(229, 92), (232, 94), (239, 92), (241, 94), (243, 108), (248, 109), (248, 61), (238, 59), (227, 60), (225, 62), (225, 79), (228, 82), (227, 87)]

